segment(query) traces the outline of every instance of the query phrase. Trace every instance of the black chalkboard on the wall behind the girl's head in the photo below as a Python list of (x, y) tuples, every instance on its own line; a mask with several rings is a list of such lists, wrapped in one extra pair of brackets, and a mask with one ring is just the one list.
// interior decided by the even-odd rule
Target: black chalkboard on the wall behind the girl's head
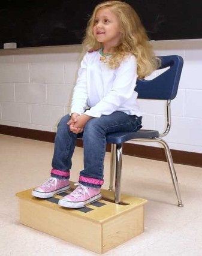
[[(0, 48), (80, 44), (100, 0), (4, 0)], [(202, 38), (201, 0), (131, 0), (150, 40)]]

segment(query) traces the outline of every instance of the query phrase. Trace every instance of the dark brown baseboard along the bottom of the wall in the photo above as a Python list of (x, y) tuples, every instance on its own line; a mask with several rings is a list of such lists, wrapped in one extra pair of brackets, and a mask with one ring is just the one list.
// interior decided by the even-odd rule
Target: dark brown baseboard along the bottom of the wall
[[(10, 127), (0, 125), (0, 134), (11, 135), (32, 140), (41, 140), (54, 142), (55, 132), (39, 131), (35, 129), (26, 129), (20, 127)], [(83, 147), (82, 140), (77, 140), (77, 146)], [(110, 145), (107, 145), (107, 151), (110, 152)], [(166, 161), (164, 149), (159, 147), (144, 146), (140, 144), (123, 143), (123, 154), (137, 156), (140, 158), (149, 158), (153, 160)], [(192, 165), (202, 167), (202, 154), (195, 152), (186, 152), (171, 149), (173, 162), (176, 164)]]

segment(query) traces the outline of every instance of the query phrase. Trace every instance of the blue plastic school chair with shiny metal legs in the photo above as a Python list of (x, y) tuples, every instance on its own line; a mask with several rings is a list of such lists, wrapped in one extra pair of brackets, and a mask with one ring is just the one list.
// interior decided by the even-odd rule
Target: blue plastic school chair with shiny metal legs
[(167, 127), (162, 134), (159, 131), (140, 129), (137, 132), (111, 132), (107, 134), (107, 143), (111, 144), (111, 163), (110, 163), (110, 186), (109, 190), (113, 190), (113, 177), (115, 174), (115, 195), (114, 201), (120, 204), (120, 181), (122, 173), (122, 143), (132, 141), (146, 141), (160, 143), (165, 150), (168, 166), (170, 168), (171, 179), (173, 180), (174, 189), (177, 195), (178, 206), (182, 207), (182, 200), (179, 191), (176, 171), (173, 165), (173, 158), (171, 156), (168, 144), (161, 138), (168, 134), (171, 127), (171, 109), (170, 103), (176, 97), (179, 85), (180, 75), (183, 67), (183, 59), (180, 56), (161, 56), (161, 67), (164, 73), (155, 77), (153, 80), (137, 80), (135, 91), (138, 92), (138, 98), (148, 100), (164, 100), (167, 101)]

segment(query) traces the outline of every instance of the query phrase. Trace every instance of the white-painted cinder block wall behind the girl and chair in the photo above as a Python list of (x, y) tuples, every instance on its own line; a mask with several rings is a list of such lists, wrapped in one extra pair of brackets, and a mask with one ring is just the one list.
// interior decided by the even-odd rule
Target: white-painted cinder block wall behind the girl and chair
[[(202, 40), (152, 42), (156, 55), (180, 55), (184, 67), (172, 101), (171, 149), (202, 152)], [(56, 131), (70, 111), (81, 46), (0, 50), (0, 124)], [(140, 100), (144, 128), (164, 129), (164, 107)], [(153, 145), (156, 146), (156, 145)]]

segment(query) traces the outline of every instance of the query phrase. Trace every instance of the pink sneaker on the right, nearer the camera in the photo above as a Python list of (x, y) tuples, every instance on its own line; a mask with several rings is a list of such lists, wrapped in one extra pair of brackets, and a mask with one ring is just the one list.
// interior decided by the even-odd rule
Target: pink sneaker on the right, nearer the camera
[(83, 186), (80, 183), (76, 183), (75, 185), (78, 187), (71, 192), (70, 195), (66, 195), (59, 200), (59, 206), (80, 208), (93, 203), (102, 197), (100, 188), (91, 188), (89, 186)]

